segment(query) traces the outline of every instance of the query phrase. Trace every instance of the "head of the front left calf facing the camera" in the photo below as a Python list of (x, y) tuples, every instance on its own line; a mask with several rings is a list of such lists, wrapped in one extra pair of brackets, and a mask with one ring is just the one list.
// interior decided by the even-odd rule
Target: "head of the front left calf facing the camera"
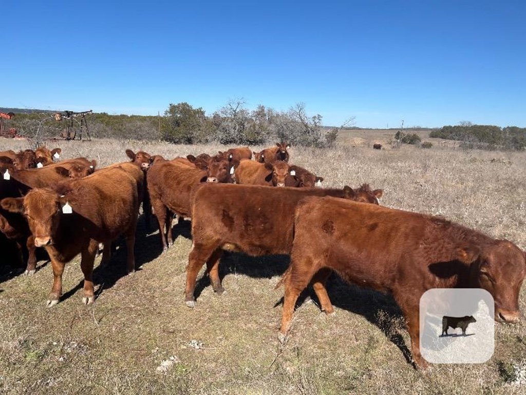
[(2, 209), (22, 213), (35, 237), (35, 246), (52, 245), (56, 238), (62, 208), (66, 198), (49, 189), (34, 189), (25, 197), (6, 197), (0, 201)]

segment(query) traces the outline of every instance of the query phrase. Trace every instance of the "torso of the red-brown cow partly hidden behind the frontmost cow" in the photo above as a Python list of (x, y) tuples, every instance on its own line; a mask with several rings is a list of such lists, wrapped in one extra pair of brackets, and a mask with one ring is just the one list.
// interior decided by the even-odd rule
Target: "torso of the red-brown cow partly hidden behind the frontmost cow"
[(194, 193), (194, 242), (220, 240), (222, 248), (250, 255), (288, 254), (294, 211), (307, 196), (341, 195), (340, 190), (256, 185), (204, 184)]

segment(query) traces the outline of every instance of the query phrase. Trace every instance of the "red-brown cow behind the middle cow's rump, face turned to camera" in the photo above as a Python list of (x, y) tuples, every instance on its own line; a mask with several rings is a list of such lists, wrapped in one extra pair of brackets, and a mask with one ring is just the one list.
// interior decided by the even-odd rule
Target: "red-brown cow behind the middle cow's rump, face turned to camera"
[[(207, 166), (207, 170), (201, 170), (179, 162), (158, 160), (148, 171), (148, 193), (159, 223), (159, 235), (164, 250), (173, 244), (171, 235), (173, 214), (183, 218), (190, 217), (192, 188), (204, 182), (224, 182), (222, 180), (227, 179), (225, 173), (230, 175), (222, 167), (222, 165), (226, 166), (225, 160), (213, 162), (219, 164), (214, 163), (212, 166)], [(214, 170), (218, 172), (215, 173)]]

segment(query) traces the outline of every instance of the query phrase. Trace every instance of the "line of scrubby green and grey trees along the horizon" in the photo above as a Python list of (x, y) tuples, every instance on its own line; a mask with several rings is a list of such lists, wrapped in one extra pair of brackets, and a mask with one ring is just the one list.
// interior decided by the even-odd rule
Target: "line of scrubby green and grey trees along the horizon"
[[(4, 111), (5, 108), (2, 108)], [(9, 108), (16, 116), (4, 120), (6, 127), (14, 127), (18, 134), (28, 137), (34, 145), (47, 139), (60, 137), (64, 121), (55, 121), (54, 111), (29, 111)], [(78, 123), (78, 119), (74, 119)], [(354, 117), (340, 127), (322, 125), (322, 117), (307, 115), (304, 103), (297, 103), (288, 111), (258, 105), (249, 110), (242, 100), (231, 100), (211, 115), (202, 107), (194, 108), (186, 102), (170, 103), (162, 116), (88, 115), (92, 137), (122, 140), (166, 141), (174, 144), (218, 142), (226, 145), (260, 145), (284, 141), (310, 147), (331, 147), (336, 144), (338, 132), (351, 127)], [(401, 133), (401, 132), (400, 132)], [(400, 134), (396, 141), (419, 144), (416, 134)], [(515, 150), (526, 147), (526, 128), (517, 126), (475, 125), (460, 122), (431, 130), (429, 137), (455, 140), (465, 149)]]

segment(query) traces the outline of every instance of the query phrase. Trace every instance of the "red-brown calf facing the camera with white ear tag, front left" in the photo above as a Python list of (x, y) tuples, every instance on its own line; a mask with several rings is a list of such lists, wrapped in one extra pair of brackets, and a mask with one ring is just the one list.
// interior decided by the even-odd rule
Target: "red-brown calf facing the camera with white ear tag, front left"
[[(136, 181), (121, 167), (96, 172), (51, 189), (35, 189), (23, 198), (6, 198), (4, 210), (24, 213), (36, 246), (45, 246), (53, 268), (53, 288), (47, 306), (62, 295), (62, 273), (67, 262), (82, 254), (83, 302), (94, 301), (93, 262), (99, 242), (125, 234), (128, 272), (135, 270), (135, 228), (139, 210)], [(68, 211), (67, 208), (69, 206)]]

